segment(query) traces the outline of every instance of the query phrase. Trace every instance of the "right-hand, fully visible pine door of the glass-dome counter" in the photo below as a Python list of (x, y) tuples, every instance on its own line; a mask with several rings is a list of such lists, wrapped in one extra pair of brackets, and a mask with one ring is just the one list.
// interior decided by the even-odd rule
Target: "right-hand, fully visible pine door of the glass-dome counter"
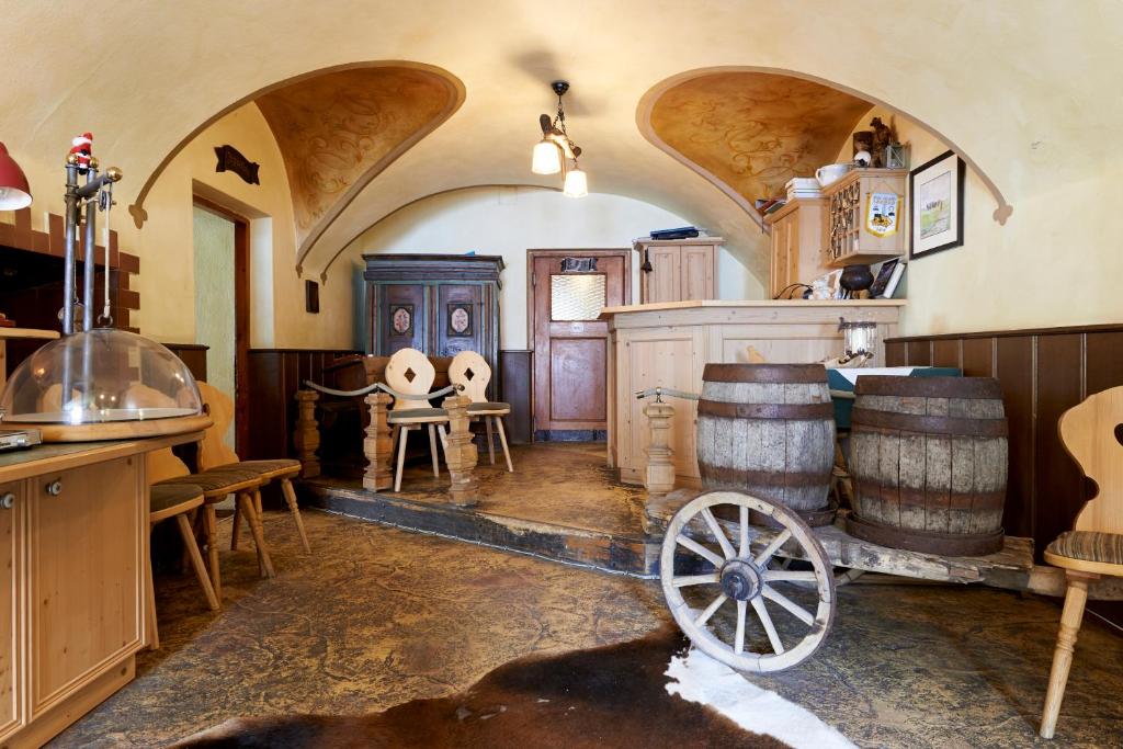
[(33, 718), (140, 648), (143, 463), (119, 458), (30, 479)]

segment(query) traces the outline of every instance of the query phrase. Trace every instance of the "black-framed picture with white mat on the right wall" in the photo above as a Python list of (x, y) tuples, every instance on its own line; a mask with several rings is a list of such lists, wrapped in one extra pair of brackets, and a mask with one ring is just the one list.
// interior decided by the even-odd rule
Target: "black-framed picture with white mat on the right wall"
[(910, 259), (964, 244), (964, 180), (967, 167), (953, 152), (909, 173), (912, 199)]

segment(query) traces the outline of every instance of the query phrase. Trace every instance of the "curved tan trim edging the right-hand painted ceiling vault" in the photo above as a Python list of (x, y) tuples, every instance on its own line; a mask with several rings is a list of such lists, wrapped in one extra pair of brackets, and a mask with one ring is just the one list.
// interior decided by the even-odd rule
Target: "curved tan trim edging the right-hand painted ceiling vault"
[[(656, 83), (654, 86), (651, 86), (651, 89), (647, 91), (647, 93), (643, 94), (643, 97), (639, 101), (638, 107), (636, 108), (636, 126), (637, 128), (639, 128), (640, 134), (651, 145), (659, 148), (660, 150), (663, 150), (674, 159), (678, 161), (679, 163), (684, 164), (685, 166), (690, 167), (701, 176), (705, 177), (715, 188), (725, 193), (725, 195), (728, 195), (733, 202), (740, 205), (758, 225), (761, 223), (760, 214), (756, 211), (756, 209), (752, 207), (749, 200), (747, 200), (743, 195), (738, 193), (737, 190), (734, 190), (730, 184), (715, 176), (711, 171), (695, 163), (693, 159), (686, 157), (679, 150), (677, 150), (676, 148), (664, 141), (664, 139), (660, 138), (659, 135), (655, 133), (655, 128), (651, 125), (651, 115), (656, 108), (656, 104), (659, 101), (659, 99), (665, 93), (667, 93), (667, 91), (669, 91), (675, 86), (687, 83), (690, 81), (694, 81), (696, 79), (710, 75), (724, 75), (729, 73), (763, 73), (768, 75), (786, 75), (788, 77), (794, 77), (802, 81), (810, 81), (812, 83), (818, 83), (820, 85), (865, 100), (869, 102), (870, 107), (874, 107), (875, 104), (880, 106), (886, 108), (893, 113), (901, 115), (902, 117), (905, 117), (915, 122), (917, 126), (930, 133), (935, 138), (939, 138), (941, 141), (943, 141), (971, 168), (973, 172), (975, 172), (975, 174), (979, 176), (980, 180), (983, 180), (983, 183), (986, 185), (987, 190), (994, 197), (996, 208), (992, 216), (994, 220), (998, 222), (999, 226), (1004, 226), (1006, 223), (1006, 220), (1010, 218), (1011, 213), (1014, 212), (1014, 207), (1011, 205), (1008, 202), (1006, 202), (1006, 199), (1003, 195), (1002, 190), (998, 189), (998, 185), (994, 182), (994, 180), (990, 179), (990, 176), (987, 175), (986, 172), (984, 172), (979, 167), (978, 163), (974, 158), (971, 158), (967, 153), (965, 153), (962, 148), (957, 146), (951, 138), (943, 135), (942, 133), (931, 127), (930, 125), (925, 124), (924, 121), (920, 120), (915, 116), (904, 111), (903, 109), (895, 107), (887, 101), (878, 99), (877, 97), (873, 97), (864, 91), (858, 91), (857, 89), (842, 85), (834, 81), (829, 81), (827, 79), (819, 77), (816, 75), (809, 75), (806, 73), (801, 73), (798, 71), (793, 71), (783, 67), (763, 67), (752, 65), (727, 65), (716, 67), (701, 67), (697, 70), (686, 71), (684, 73), (673, 75), (668, 79), (665, 79)], [(847, 135), (849, 135), (849, 133)]]

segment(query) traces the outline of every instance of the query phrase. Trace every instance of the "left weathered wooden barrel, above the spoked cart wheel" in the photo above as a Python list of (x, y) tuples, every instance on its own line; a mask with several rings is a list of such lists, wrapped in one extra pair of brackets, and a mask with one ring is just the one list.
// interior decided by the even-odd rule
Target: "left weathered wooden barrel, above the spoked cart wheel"
[(821, 364), (707, 364), (699, 401), (702, 484), (831, 522), (834, 408)]

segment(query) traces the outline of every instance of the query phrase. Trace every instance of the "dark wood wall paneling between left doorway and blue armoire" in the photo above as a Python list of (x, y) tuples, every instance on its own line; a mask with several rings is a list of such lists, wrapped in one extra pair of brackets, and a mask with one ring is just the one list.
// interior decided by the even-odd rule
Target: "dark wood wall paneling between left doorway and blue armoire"
[[(243, 460), (295, 457), (292, 426), (294, 395), (305, 380), (325, 383), (323, 368), (336, 358), (358, 354), (346, 349), (249, 349), (249, 447)], [(331, 385), (334, 383), (325, 383)]]

